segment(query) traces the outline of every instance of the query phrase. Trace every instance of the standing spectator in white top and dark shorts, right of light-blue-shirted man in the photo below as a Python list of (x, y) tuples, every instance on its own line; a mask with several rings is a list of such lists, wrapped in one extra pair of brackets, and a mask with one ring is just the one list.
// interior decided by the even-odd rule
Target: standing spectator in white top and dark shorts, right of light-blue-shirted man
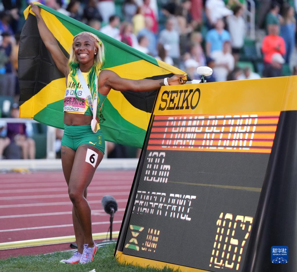
[(246, 23), (242, 17), (244, 9), (242, 6), (233, 7), (234, 15), (227, 17), (228, 30), (230, 32), (232, 54), (235, 62), (239, 60), (239, 53), (244, 45), (244, 37), (246, 35)]

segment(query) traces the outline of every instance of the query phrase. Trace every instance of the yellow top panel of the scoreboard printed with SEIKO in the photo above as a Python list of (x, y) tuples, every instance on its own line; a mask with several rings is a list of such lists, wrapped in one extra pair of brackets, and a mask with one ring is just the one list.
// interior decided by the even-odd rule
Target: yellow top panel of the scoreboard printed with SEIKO
[(297, 110), (296, 87), (297, 76), (163, 86), (154, 115)]

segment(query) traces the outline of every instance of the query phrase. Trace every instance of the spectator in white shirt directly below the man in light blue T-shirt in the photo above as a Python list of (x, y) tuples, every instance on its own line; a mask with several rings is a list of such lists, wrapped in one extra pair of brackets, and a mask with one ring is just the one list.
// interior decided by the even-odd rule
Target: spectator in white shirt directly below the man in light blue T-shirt
[(231, 54), (230, 41), (224, 41), (223, 50), (216, 50), (211, 53), (214, 59), (214, 73), (217, 81), (226, 81), (230, 71), (234, 69), (234, 57)]

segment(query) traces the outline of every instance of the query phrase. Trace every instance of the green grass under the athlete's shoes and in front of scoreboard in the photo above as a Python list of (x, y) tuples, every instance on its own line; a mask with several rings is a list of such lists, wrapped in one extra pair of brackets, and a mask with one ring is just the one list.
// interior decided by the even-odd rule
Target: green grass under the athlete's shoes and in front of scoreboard
[(119, 264), (113, 257), (115, 245), (107, 245), (100, 247), (94, 257), (94, 261), (85, 265), (75, 264), (67, 265), (59, 263), (62, 259), (68, 259), (72, 256), (71, 251), (53, 252), (45, 255), (30, 255), (11, 257), (0, 260), (1, 272), (70, 272), (82, 271), (89, 272), (93, 269), (96, 272), (173, 272), (172, 269), (163, 268), (161, 270), (155, 268), (142, 268), (133, 265)]

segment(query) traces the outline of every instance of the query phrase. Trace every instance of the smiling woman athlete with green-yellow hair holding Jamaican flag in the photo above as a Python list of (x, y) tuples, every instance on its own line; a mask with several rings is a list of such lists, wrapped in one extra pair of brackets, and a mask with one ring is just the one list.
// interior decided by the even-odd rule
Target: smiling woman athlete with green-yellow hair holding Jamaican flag
[(69, 198), (73, 204), (72, 218), (78, 252), (61, 262), (84, 264), (93, 260), (97, 250), (92, 239), (91, 210), (86, 200), (87, 187), (105, 151), (97, 113), (111, 89), (150, 91), (163, 85), (180, 84), (179, 80), (182, 82), (184, 75), (158, 80), (131, 80), (121, 78), (113, 71), (101, 70), (104, 45), (90, 32), (79, 33), (73, 38), (68, 60), (42, 19), (40, 8), (33, 3), (30, 5), (37, 19), (40, 37), (57, 68), (66, 77), (61, 158)]

